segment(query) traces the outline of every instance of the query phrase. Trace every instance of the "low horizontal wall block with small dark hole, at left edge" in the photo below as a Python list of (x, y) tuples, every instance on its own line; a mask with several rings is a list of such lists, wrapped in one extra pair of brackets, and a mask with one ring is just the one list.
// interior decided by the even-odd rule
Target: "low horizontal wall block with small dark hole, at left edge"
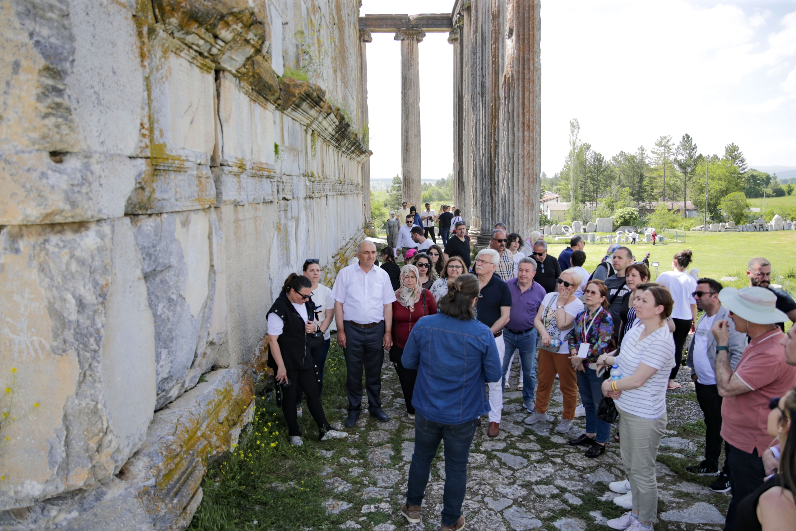
[(0, 225), (122, 217), (143, 169), (140, 159), (118, 154), (0, 152)]

